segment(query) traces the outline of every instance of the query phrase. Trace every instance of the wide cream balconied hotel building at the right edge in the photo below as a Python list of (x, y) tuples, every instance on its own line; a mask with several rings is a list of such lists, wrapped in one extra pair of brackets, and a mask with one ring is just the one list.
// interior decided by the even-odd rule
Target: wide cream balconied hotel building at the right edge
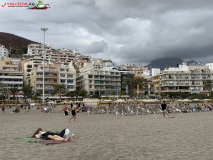
[[(169, 68), (160, 75), (161, 92), (208, 93), (204, 88), (206, 80), (213, 80), (209, 65), (189, 65), (185, 62), (179, 68)], [(157, 81), (158, 79), (156, 79)], [(157, 90), (156, 90), (157, 92)]]

